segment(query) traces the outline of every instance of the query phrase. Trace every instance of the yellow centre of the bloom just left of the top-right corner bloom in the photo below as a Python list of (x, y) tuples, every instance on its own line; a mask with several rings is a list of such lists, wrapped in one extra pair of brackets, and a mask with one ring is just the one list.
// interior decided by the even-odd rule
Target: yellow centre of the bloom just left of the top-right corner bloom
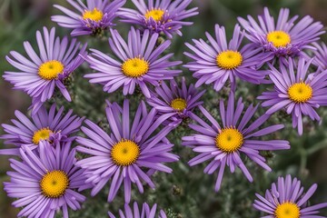
[(243, 56), (237, 51), (224, 51), (216, 57), (217, 65), (226, 70), (232, 70), (242, 64)]

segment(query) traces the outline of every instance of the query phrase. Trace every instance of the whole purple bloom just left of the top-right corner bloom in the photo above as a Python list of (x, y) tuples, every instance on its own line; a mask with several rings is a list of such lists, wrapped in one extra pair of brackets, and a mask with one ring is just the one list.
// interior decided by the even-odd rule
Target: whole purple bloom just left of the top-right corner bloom
[(261, 48), (253, 48), (253, 45), (240, 47), (243, 41), (243, 33), (239, 25), (235, 25), (233, 38), (227, 44), (225, 29), (215, 25), (215, 39), (205, 33), (210, 45), (203, 39), (195, 40), (195, 45), (186, 43), (194, 54), (184, 54), (193, 59), (193, 62), (184, 66), (193, 71), (193, 77), (198, 81), (195, 87), (201, 84), (213, 84), (213, 89), (219, 91), (229, 79), (233, 89), (235, 77), (253, 84), (261, 84), (268, 72), (258, 71), (254, 67), (260, 66), (270, 60), (267, 54), (261, 53)]

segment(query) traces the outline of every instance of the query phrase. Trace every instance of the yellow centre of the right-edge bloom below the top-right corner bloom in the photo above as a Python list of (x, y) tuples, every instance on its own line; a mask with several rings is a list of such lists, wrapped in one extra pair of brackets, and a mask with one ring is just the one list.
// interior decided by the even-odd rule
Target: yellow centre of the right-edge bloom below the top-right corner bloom
[(290, 99), (295, 103), (305, 103), (312, 98), (312, 87), (303, 82), (292, 84), (287, 93)]

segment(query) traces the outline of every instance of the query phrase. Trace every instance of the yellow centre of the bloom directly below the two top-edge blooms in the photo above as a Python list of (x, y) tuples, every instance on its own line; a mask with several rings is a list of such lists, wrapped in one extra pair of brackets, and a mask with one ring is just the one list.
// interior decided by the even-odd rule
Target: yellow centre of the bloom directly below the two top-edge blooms
[(122, 71), (130, 77), (139, 77), (149, 71), (149, 64), (144, 58), (134, 57), (126, 60), (122, 65)]

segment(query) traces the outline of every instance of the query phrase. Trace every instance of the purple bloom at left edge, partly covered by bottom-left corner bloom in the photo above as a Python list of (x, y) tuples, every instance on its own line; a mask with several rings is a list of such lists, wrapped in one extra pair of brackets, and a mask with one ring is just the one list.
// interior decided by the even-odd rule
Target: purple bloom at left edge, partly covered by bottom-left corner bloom
[(54, 141), (74, 141), (72, 135), (79, 131), (84, 120), (69, 110), (64, 115), (64, 107), (55, 112), (55, 104), (46, 111), (41, 107), (35, 115), (32, 115), (32, 121), (25, 114), (15, 111), (18, 120), (12, 120), (14, 125), (2, 124), (6, 134), (0, 136), (5, 139), (5, 144), (13, 144), (17, 148), (1, 149), (0, 154), (19, 155), (19, 148), (23, 145), (34, 150), (42, 141), (53, 143)]

